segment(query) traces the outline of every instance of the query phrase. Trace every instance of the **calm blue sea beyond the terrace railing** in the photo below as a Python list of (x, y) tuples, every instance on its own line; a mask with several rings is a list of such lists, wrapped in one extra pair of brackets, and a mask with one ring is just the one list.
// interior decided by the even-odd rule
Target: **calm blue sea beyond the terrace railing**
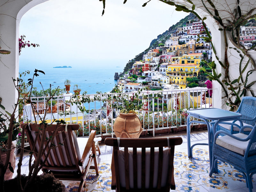
[[(23, 79), (28, 82), (27, 80), (33, 76), (35, 68), (44, 71), (45, 75), (38, 73), (39, 76), (35, 77), (33, 83), (33, 86), (36, 87), (38, 91), (42, 90), (42, 86), (44, 89), (50, 88), (50, 84), (52, 85), (52, 88), (56, 88), (58, 86), (60, 88), (65, 88), (64, 81), (68, 79), (71, 81), (69, 92), (74, 93), (73, 86), (74, 84), (78, 84), (81, 89), (80, 94), (85, 91), (87, 94), (95, 94), (97, 91), (103, 93), (110, 92), (117, 83), (117, 81), (114, 80), (115, 72), (123, 72), (123, 67), (109, 65), (80, 65), (71, 66), (72, 68), (53, 67), (58, 67), (58, 65), (51, 67), (44, 65), (28, 66), (20, 63), (19, 72), (22, 73), (26, 70), (30, 71), (29, 75), (23, 77)], [(96, 103), (96, 108), (100, 108), (100, 103)]]

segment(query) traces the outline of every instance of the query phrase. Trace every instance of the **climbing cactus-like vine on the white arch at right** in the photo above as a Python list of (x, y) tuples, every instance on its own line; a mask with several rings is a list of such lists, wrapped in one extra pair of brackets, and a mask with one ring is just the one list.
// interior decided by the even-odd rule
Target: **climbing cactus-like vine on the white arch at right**
[[(105, 8), (105, 0), (102, 1), (103, 8)], [(126, 1), (127, 0), (124, 0), (124, 4)], [(150, 1), (151, 0), (148, 2)], [(212, 73), (206, 72), (204, 68), (202, 68), (202, 70), (205, 71), (209, 79), (215, 80), (221, 85), (223, 89), (222, 99), (226, 100), (226, 104), (230, 107), (230, 110), (236, 110), (241, 102), (241, 97), (247, 96), (248, 93), (255, 97), (252, 85), (254, 85), (256, 81), (250, 81), (249, 77), (256, 70), (255, 60), (252, 58), (252, 54), (255, 54), (256, 51), (256, 45), (253, 45), (248, 49), (240, 44), (239, 30), (240, 26), (245, 25), (248, 20), (256, 18), (256, 2), (252, 1), (253, 3), (251, 3), (248, 1), (240, 3), (239, 0), (234, 0), (234, 2), (231, 4), (226, 0), (184, 0), (184, 2), (182, 2), (183, 5), (181, 5), (180, 2), (174, 2), (171, 0), (159, 1), (175, 6), (176, 11), (193, 13), (198, 19), (202, 20), (207, 36), (200, 38), (203, 38), (205, 42), (211, 43), (212, 51), (222, 68), (222, 72), (217, 74), (216, 63), (214, 61), (207, 63), (206, 60), (202, 61), (212, 69)], [(144, 3), (142, 6), (146, 6), (148, 2)], [(246, 7), (247, 10), (241, 10), (242, 6)], [(223, 60), (219, 59), (215, 46), (212, 43), (212, 36), (204, 22), (204, 20), (207, 18), (202, 18), (199, 16), (199, 14), (196, 12), (196, 8), (197, 10), (206, 10), (206, 12), (208, 12), (208, 14), (218, 24), (219, 30), (223, 34), (225, 41), (225, 57)], [(104, 14), (104, 10), (102, 14)], [(199, 41), (199, 38), (197, 41)], [(236, 51), (237, 55), (240, 57), (238, 77), (233, 77), (233, 74), (230, 74), (230, 61), (228, 60), (228, 55), (232, 55), (232, 50)]]

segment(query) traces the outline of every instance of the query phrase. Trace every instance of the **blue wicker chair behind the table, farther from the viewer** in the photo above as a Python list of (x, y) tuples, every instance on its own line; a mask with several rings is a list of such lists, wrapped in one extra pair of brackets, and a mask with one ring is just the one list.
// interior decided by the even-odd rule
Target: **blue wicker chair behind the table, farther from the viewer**
[[(237, 113), (241, 113), (242, 117), (241, 120), (243, 121), (243, 125), (255, 125), (256, 121), (256, 98), (255, 97), (243, 97), (241, 104), (239, 105)], [(216, 127), (217, 131), (225, 131), (229, 134), (236, 134), (239, 133), (240, 130), (240, 123), (237, 121), (225, 121), (218, 124)], [(244, 130), (244, 134), (249, 135), (250, 129), (246, 128)], [(220, 134), (223, 136), (223, 134)]]

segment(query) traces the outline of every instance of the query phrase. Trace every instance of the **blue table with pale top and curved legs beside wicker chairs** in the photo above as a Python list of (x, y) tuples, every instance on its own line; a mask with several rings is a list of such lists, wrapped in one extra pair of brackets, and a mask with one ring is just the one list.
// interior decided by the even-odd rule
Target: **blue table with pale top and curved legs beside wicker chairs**
[[(212, 166), (212, 144), (213, 144), (213, 137), (215, 134), (216, 126), (223, 121), (233, 121), (237, 120), (240, 122), (241, 127), (243, 126), (243, 122), (240, 119), (242, 116), (240, 113), (219, 109), (219, 108), (204, 108), (204, 109), (190, 109), (187, 110), (188, 117), (187, 117), (187, 137), (188, 137), (188, 156), (192, 157), (192, 149), (196, 145), (209, 145), (209, 158), (210, 158), (210, 169)], [(195, 117), (197, 119), (201, 119), (203, 121), (190, 121), (190, 117)], [(208, 122), (211, 120), (212, 122)], [(206, 124), (208, 129), (208, 143), (196, 143), (191, 146), (190, 144), (190, 124), (191, 123), (200, 123)], [(212, 127), (213, 125), (213, 127)], [(217, 166), (215, 166), (217, 167)], [(214, 170), (214, 172), (218, 172), (218, 169)]]

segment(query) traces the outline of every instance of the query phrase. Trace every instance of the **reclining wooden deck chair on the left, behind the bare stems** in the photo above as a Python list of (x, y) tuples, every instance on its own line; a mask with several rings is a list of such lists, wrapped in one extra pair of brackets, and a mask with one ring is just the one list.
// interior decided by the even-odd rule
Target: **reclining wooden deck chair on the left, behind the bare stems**
[[(25, 128), (30, 147), (33, 146), (34, 142), (37, 142), (36, 153), (33, 154), (36, 158), (39, 148), (38, 143), (41, 141), (41, 137), (38, 137), (35, 141), (38, 128), (36, 124), (21, 124), (21, 128)], [(74, 130), (78, 130), (78, 128), (78, 124), (58, 126), (58, 134), (54, 139), (54, 145), (58, 147), (50, 151), (42, 170), (46, 173), (53, 173), (60, 180), (81, 181), (78, 188), (78, 192), (80, 192), (83, 186), (85, 187), (84, 183), (89, 169), (95, 169), (97, 175), (99, 175), (99, 172), (93, 141), (96, 131), (91, 131), (89, 138), (76, 138)], [(55, 129), (56, 125), (49, 126), (46, 129), (46, 137), (51, 137)], [(63, 145), (60, 145), (60, 143)], [(47, 151), (43, 154), (41, 163), (44, 161), (46, 154)], [(95, 166), (91, 166), (92, 160), (94, 160)]]

